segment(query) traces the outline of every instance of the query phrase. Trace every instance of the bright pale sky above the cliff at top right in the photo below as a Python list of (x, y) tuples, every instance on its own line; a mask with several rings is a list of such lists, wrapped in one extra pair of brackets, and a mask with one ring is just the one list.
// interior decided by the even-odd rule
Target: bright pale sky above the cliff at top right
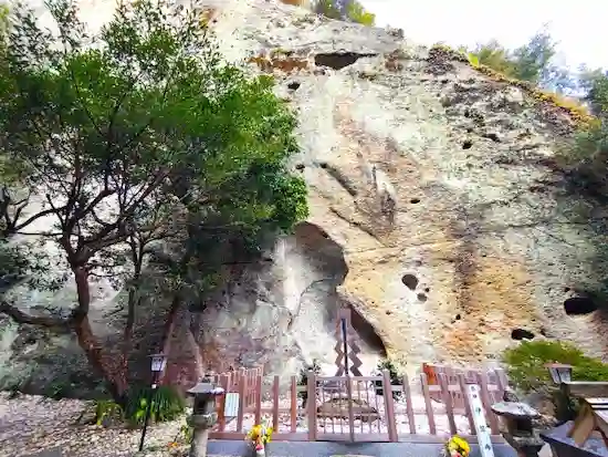
[[(403, 29), (420, 44), (442, 41), (475, 45), (491, 39), (507, 48), (524, 44), (547, 23), (560, 62), (576, 69), (608, 69), (608, 2), (605, 0), (360, 0), (378, 27)], [(567, 4), (575, 8), (567, 8)]]

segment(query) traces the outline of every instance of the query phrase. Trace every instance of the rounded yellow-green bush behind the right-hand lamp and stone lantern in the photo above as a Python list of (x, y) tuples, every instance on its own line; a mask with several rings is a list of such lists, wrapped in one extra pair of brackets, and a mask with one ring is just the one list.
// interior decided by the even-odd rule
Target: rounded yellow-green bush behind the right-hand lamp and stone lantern
[(509, 377), (524, 392), (549, 392), (553, 388), (547, 363), (573, 365), (575, 381), (607, 381), (608, 365), (586, 356), (569, 343), (559, 341), (526, 341), (503, 354)]

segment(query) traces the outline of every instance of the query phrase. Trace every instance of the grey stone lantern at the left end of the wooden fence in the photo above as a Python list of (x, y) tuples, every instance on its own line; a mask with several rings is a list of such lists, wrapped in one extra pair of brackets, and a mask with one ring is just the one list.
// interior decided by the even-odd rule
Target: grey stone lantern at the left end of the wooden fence
[(192, 416), (188, 419), (188, 424), (192, 427), (192, 444), (189, 457), (207, 456), (209, 430), (218, 422), (216, 399), (223, 393), (223, 388), (216, 386), (208, 380), (199, 382), (188, 391), (188, 394), (195, 397)]

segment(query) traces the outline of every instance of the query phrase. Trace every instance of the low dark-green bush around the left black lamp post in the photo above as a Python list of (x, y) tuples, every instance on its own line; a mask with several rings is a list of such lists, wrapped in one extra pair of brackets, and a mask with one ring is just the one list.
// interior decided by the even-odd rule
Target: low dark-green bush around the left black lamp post
[(125, 419), (133, 425), (143, 425), (150, 397), (150, 422), (175, 420), (184, 414), (186, 403), (175, 387), (159, 386), (153, 391), (150, 386), (132, 386), (123, 408)]

